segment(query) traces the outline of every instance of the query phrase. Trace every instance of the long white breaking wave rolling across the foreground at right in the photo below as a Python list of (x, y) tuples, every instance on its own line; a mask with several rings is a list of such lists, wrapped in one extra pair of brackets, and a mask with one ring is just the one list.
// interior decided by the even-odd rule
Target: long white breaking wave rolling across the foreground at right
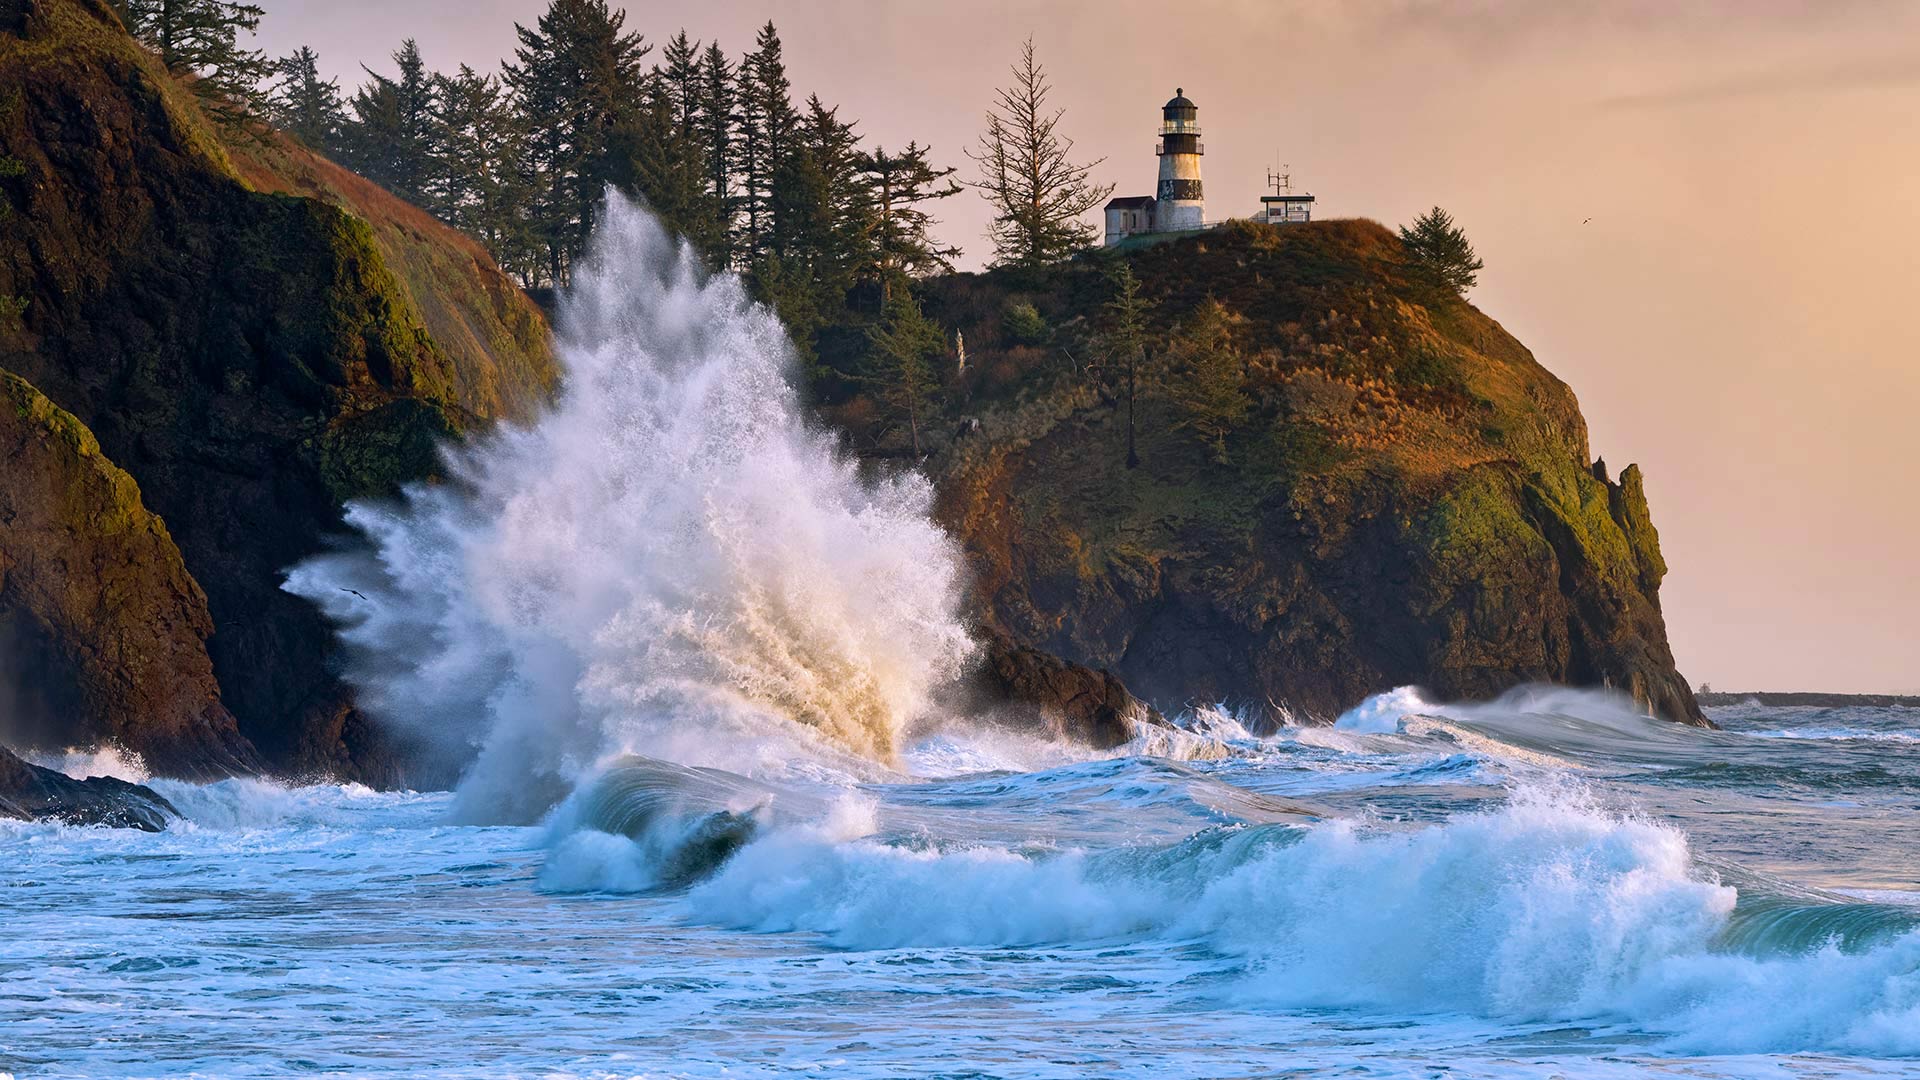
[[(549, 851), (549, 888), (659, 882), (659, 849), (609, 855), (578, 836)], [(760, 817), (685, 884), (693, 920), (849, 949), (1198, 942), (1238, 972), (1240, 1005), (1630, 1024), (1697, 1051), (1920, 1053), (1920, 913), (1734, 888), (1680, 830), (1569, 784), (1427, 828), (1219, 826), (1106, 851), (891, 834), (851, 799)]]

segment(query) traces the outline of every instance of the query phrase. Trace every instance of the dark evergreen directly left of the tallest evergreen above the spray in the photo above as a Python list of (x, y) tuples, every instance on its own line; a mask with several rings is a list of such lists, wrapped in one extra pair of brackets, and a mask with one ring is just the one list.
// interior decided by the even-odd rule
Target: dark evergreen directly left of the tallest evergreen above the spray
[(538, 254), (526, 223), (522, 136), (513, 102), (499, 79), (465, 63), (453, 77), (434, 77), (434, 96), (440, 102), (434, 213), (486, 244), (501, 269), (528, 279)]

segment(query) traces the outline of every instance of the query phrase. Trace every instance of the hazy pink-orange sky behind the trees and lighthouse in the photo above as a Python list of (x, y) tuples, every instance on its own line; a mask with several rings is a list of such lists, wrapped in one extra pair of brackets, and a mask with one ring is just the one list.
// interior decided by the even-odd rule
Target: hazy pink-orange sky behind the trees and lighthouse
[[(543, 0), (263, 0), (261, 44), (344, 85), (415, 37), (493, 69)], [(1290, 163), (1323, 215), (1446, 206), (1473, 302), (1647, 473), (1680, 669), (1740, 690), (1920, 692), (1920, 4), (708, 0), (628, 4), (797, 96), (968, 165), (1033, 35), (1064, 133), (1150, 194), (1160, 104), (1200, 106), (1208, 217)], [(973, 194), (945, 238), (989, 254)], [(1592, 219), (1590, 223), (1584, 223)]]

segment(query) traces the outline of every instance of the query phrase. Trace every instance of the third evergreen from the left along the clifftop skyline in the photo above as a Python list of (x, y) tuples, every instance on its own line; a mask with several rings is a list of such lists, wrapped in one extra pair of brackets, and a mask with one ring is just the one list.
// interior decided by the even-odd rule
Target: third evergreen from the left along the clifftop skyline
[(434, 144), (438, 83), (413, 38), (394, 54), (397, 79), (363, 67), (372, 79), (353, 94), (346, 150), (353, 169), (415, 206), (430, 206), (438, 171)]

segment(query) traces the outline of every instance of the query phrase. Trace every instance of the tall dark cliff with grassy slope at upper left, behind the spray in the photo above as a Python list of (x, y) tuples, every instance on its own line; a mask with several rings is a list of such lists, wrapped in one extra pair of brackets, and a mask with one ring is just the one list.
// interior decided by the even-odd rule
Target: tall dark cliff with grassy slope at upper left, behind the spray
[(100, 0), (0, 2), (0, 367), (92, 429), (165, 519), (263, 759), (394, 778), (280, 575), (344, 500), (536, 405), (540, 311), (426, 213), (211, 127)]

